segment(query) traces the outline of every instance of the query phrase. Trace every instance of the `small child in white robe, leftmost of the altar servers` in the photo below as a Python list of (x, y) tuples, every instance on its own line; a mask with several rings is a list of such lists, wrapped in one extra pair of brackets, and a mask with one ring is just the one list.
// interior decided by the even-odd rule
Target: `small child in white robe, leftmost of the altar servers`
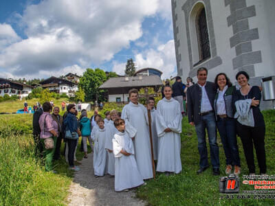
[(104, 176), (107, 171), (107, 151), (105, 141), (109, 131), (104, 127), (104, 120), (100, 117), (97, 121), (98, 128), (94, 126), (91, 139), (94, 141), (94, 175)]

